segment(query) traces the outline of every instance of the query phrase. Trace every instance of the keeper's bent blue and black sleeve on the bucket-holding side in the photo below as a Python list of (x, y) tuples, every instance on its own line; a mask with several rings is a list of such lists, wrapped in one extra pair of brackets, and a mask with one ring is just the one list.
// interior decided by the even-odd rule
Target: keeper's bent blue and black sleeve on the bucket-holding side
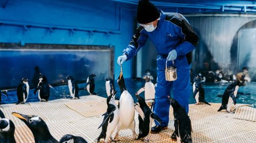
[(181, 14), (178, 14), (175, 18), (172, 18), (171, 21), (180, 27), (180, 30), (176, 32), (183, 39), (183, 42), (175, 49), (177, 55), (186, 55), (196, 49), (199, 38), (193, 28), (189, 25), (187, 19)]

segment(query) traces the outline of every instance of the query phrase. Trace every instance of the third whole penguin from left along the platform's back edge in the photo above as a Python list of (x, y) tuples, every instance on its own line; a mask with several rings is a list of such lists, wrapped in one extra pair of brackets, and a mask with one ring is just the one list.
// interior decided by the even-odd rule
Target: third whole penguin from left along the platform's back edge
[(66, 79), (68, 80), (70, 96), (73, 99), (79, 99), (79, 96), (78, 96), (78, 85), (77, 85), (75, 79), (72, 76), (68, 76), (68, 77), (66, 77)]

